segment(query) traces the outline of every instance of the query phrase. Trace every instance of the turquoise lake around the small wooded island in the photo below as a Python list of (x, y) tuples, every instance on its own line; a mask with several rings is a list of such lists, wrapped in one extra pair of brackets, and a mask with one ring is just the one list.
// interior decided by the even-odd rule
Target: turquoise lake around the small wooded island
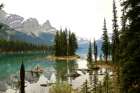
[[(1, 54), (0, 55), (0, 91), (4, 91), (7, 88), (18, 87), (19, 70), (21, 63), (25, 65), (26, 78), (25, 80), (30, 83), (35, 83), (39, 80), (43, 74), (50, 82), (66, 81), (72, 84), (73, 88), (79, 88), (86, 80), (93, 81), (92, 76), (89, 73), (82, 71), (76, 71), (76, 69), (87, 69), (86, 54), (87, 49), (78, 50), (77, 54), (81, 56), (81, 59), (73, 61), (60, 61), (60, 60), (48, 60), (48, 53), (34, 52), (25, 54)], [(43, 73), (31, 73), (30, 71), (35, 67), (41, 67), (44, 69)], [(103, 70), (103, 69), (101, 69)], [(68, 77), (70, 73), (77, 72), (79, 77)], [(102, 76), (99, 76), (103, 79)]]

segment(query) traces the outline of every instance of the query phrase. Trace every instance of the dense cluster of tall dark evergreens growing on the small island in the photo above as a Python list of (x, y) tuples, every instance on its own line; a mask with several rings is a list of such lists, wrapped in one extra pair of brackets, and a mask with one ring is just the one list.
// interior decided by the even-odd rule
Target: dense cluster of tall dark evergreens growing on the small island
[(55, 56), (72, 56), (78, 48), (77, 39), (74, 33), (65, 30), (56, 32)]

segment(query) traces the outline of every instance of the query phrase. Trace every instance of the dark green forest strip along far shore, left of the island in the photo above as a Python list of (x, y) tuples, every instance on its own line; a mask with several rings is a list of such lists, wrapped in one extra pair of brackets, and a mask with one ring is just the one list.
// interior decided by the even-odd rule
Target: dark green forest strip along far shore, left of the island
[(41, 46), (22, 41), (0, 40), (0, 52), (22, 52), (22, 51), (35, 51), (47, 49), (48, 49), (47, 45)]

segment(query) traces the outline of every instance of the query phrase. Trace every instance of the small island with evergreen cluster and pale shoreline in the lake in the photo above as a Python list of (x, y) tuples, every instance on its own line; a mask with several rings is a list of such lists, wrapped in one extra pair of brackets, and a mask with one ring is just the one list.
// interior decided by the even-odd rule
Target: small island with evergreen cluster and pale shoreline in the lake
[(76, 60), (80, 56), (75, 52), (78, 48), (76, 35), (67, 29), (56, 32), (54, 55), (49, 55), (50, 60)]

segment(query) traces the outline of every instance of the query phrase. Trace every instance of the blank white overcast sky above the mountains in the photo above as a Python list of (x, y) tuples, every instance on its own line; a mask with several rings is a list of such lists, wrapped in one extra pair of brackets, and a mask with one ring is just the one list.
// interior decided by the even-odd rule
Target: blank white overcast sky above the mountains
[[(120, 16), (120, 0), (116, 0)], [(77, 36), (99, 39), (106, 18), (112, 32), (112, 0), (0, 0), (4, 10), (25, 19), (36, 18), (40, 24), (49, 20), (56, 29), (68, 28)]]

